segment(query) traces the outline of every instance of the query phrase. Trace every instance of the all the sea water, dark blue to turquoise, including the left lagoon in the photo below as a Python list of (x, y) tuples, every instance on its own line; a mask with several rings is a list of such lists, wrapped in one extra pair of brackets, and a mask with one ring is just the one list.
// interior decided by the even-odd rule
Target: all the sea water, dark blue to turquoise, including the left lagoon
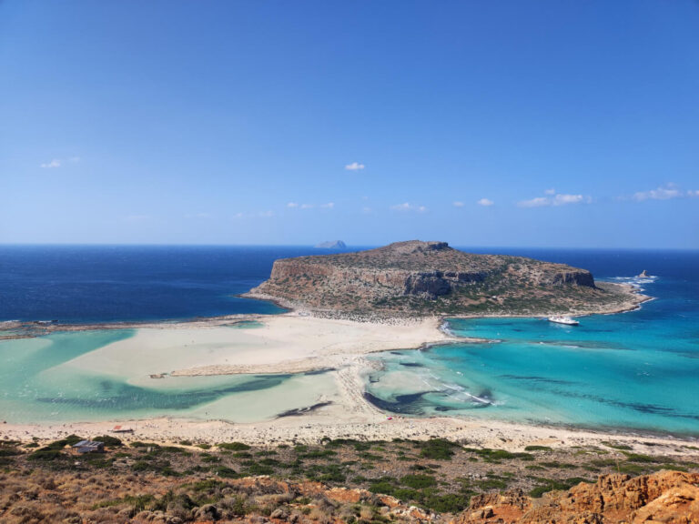
[[(449, 326), (457, 335), (491, 342), (376, 355), (383, 368), (368, 377), (373, 402), (415, 416), (699, 435), (699, 252), (466, 250), (584, 267), (597, 279), (633, 283), (655, 299), (630, 313), (582, 317), (577, 328), (541, 318), (452, 319)], [(324, 252), (312, 247), (0, 247), (0, 321), (275, 314), (279, 307), (236, 295), (267, 278), (276, 258)], [(652, 277), (634, 277), (643, 269)], [(76, 384), (87, 378), (66, 363), (131, 336), (120, 330), (0, 341), (0, 378), (5, 377), (0, 418), (197, 416), (212, 402), (250, 395), (255, 388), (312, 388), (311, 378), (289, 377), (202, 378), (171, 390), (121, 378)]]

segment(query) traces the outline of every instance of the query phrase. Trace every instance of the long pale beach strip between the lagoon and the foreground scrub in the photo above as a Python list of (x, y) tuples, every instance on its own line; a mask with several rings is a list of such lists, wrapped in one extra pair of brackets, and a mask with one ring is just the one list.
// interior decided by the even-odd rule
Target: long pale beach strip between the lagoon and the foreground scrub
[[(226, 420), (190, 418), (117, 419), (113, 421), (41, 424), (3, 424), (0, 438), (46, 443), (68, 435), (81, 437), (113, 435), (125, 442), (155, 441), (177, 444), (182, 440), (214, 445), (243, 442), (274, 448), (280, 444), (320, 444), (326, 439), (352, 438), (372, 441), (393, 439), (427, 440), (445, 438), (481, 448), (521, 452), (527, 446), (572, 448), (603, 446), (605, 442), (630, 446), (630, 451), (647, 455), (682, 457), (696, 454), (699, 436), (674, 436), (633, 428), (576, 428), (508, 422), (485, 418), (387, 418), (383, 413), (353, 422), (329, 420), (329, 406), (284, 414), (264, 422), (233, 423)], [(133, 428), (133, 433), (115, 433), (115, 425)]]

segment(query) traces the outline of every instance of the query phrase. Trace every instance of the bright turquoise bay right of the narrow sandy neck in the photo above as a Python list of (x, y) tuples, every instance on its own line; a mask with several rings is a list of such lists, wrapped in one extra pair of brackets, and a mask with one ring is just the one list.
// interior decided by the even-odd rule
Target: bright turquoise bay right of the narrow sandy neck
[(454, 319), (491, 343), (381, 354), (368, 397), (414, 415), (467, 415), (699, 434), (699, 290), (686, 278), (627, 279), (656, 300), (581, 318)]

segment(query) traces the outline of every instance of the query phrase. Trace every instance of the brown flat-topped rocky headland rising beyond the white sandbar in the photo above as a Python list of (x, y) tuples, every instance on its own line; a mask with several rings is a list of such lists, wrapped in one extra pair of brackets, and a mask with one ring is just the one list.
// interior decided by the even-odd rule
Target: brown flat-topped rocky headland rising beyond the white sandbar
[(397, 242), (357, 253), (277, 260), (248, 297), (326, 315), (540, 315), (607, 312), (640, 301), (577, 267), (475, 255), (446, 242)]

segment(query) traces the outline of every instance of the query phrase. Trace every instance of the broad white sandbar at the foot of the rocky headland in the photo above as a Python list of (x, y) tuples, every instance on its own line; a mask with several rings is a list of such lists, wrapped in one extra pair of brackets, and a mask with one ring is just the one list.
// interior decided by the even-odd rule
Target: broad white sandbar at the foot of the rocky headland
[[(353, 356), (456, 340), (429, 318), (401, 325), (296, 315), (260, 319), (260, 328), (141, 328), (64, 366), (126, 377), (298, 373), (337, 368)], [(462, 339), (461, 339), (462, 340)], [(151, 379), (152, 380), (152, 379)]]

